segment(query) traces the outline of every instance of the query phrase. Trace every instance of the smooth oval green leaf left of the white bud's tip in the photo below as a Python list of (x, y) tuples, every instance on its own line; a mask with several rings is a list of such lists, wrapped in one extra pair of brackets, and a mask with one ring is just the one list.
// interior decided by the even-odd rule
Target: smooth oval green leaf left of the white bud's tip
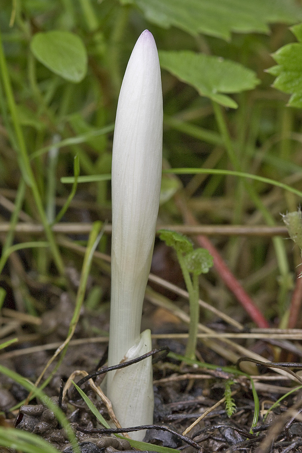
[(36, 33), (31, 51), (44, 66), (65, 80), (77, 83), (86, 76), (86, 49), (74, 33), (59, 30)]

